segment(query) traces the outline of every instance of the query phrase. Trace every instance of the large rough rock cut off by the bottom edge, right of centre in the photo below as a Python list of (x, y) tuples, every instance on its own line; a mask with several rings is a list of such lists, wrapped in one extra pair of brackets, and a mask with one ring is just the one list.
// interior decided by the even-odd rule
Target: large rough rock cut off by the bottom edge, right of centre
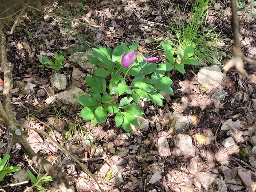
[(194, 178), (197, 187), (203, 192), (227, 192), (227, 186), (220, 174), (209, 171), (199, 172)]

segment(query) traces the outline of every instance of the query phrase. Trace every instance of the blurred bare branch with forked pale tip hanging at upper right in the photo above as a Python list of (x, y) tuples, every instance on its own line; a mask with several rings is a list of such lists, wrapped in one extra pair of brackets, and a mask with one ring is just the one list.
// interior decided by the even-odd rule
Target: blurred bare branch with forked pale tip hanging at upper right
[(237, 16), (236, 0), (231, 0), (232, 5), (232, 31), (233, 31), (233, 58), (223, 67), (224, 72), (227, 72), (231, 67), (235, 66), (240, 76), (247, 76), (247, 72), (244, 70), (244, 60), (249, 63), (256, 63), (256, 60), (246, 57), (242, 50), (239, 41), (239, 21)]

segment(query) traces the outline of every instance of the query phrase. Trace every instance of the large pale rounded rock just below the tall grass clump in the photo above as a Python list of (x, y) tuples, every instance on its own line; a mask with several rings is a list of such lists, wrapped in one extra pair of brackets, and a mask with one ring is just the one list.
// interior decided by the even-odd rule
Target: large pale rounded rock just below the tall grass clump
[(208, 88), (221, 88), (223, 74), (217, 65), (203, 67), (197, 74), (198, 82)]

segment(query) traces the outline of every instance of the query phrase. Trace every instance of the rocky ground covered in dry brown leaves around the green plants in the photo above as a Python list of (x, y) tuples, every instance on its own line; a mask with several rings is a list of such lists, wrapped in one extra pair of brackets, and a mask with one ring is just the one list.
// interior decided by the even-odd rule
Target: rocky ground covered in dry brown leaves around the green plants
[[(116, 127), (112, 116), (106, 123), (92, 126), (83, 121), (79, 115), (82, 106), (75, 103), (79, 95), (88, 93), (84, 77), (97, 67), (86, 58), (90, 49), (139, 42), (155, 53), (157, 41), (149, 39), (166, 39), (163, 31), (167, 29), (155, 24), (168, 24), (163, 10), (174, 16), (180, 6), (185, 20), (191, 6), (185, 7), (186, 2), (180, 0), (172, 4), (163, 0), (82, 3), (45, 1), (35, 7), (90, 26), (31, 7), (13, 34), (15, 18), (5, 20), (7, 56), (14, 64), (12, 109), (17, 121), (51, 134), (87, 166), (106, 191), (255, 191), (256, 67), (245, 63), (246, 78), (239, 78), (236, 69), (221, 72), (221, 66), (232, 56), (232, 40), (221, 42), (221, 65), (204, 63), (204, 67), (186, 67), (184, 75), (177, 71), (166, 74), (173, 80), (174, 95), (165, 94), (162, 107), (142, 99), (139, 105), (145, 115), (131, 133)], [(252, 59), (256, 59), (254, 8), (245, 4), (238, 14), (242, 51)], [(215, 31), (222, 39), (232, 39), (230, 4), (211, 2), (207, 9), (207, 27), (217, 26)], [(43, 56), (53, 59), (56, 51), (65, 56), (63, 69), (54, 74), (50, 67), (38, 67)], [(165, 62), (163, 54), (156, 54), (159, 65)], [(0, 78), (4, 79), (2, 72)], [(12, 135), (1, 121), (0, 125), (0, 153), (4, 154)], [(95, 181), (47, 137), (28, 131), (28, 142), (36, 153), (62, 166), (74, 178), (70, 184), (76, 191), (98, 191)], [(20, 145), (12, 147), (10, 165), (21, 170), (5, 176), (0, 187), (29, 180), (26, 169), (39, 169), (26, 160)], [(29, 186), (31, 181), (2, 189), (21, 192)], [(51, 182), (43, 183), (43, 187), (51, 191)]]

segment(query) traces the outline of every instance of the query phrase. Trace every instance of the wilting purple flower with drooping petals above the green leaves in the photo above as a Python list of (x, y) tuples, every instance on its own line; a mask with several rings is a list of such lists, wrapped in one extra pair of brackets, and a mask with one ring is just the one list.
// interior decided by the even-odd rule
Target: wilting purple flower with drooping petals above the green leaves
[(123, 67), (129, 67), (131, 64), (134, 63), (134, 61), (136, 60), (138, 54), (140, 54), (142, 56), (142, 58), (146, 61), (155, 61), (155, 60), (158, 60), (157, 57), (144, 57), (142, 55), (142, 52), (144, 51), (145, 49), (141, 46), (138, 46), (137, 50), (135, 51), (130, 51), (129, 53), (126, 53), (126, 55), (124, 55), (122, 57), (122, 66)]

